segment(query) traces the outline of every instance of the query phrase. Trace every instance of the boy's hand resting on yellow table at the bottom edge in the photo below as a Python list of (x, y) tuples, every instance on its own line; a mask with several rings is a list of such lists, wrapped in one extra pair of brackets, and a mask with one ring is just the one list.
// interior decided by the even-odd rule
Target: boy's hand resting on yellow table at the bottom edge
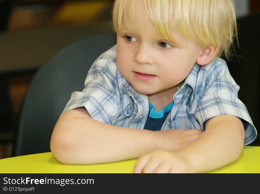
[(178, 152), (156, 150), (140, 157), (133, 173), (193, 173), (193, 169)]

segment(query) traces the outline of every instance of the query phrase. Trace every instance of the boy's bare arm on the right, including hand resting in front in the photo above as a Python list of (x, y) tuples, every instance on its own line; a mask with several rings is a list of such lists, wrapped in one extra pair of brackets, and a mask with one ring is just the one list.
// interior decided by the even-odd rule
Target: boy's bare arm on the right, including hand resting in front
[(142, 156), (134, 172), (209, 172), (234, 162), (244, 146), (241, 120), (231, 115), (209, 119), (205, 131), (186, 148), (176, 151), (154, 151)]

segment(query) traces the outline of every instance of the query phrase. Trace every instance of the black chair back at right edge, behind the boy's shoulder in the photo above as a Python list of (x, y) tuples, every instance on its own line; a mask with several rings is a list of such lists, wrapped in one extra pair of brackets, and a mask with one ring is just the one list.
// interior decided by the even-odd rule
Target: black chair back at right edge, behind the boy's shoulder
[(237, 56), (227, 61), (230, 74), (240, 86), (239, 99), (246, 105), (258, 131), (252, 146), (260, 146), (260, 13), (250, 14), (237, 19), (238, 43)]

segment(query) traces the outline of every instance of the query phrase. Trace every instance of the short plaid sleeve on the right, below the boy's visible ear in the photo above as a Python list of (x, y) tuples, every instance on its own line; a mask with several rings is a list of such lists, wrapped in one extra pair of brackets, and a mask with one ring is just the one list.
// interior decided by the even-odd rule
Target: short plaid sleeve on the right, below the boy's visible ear
[(246, 106), (238, 99), (239, 86), (235, 83), (225, 63), (213, 65), (202, 83), (195, 117), (204, 129), (205, 122), (219, 115), (233, 115), (241, 118), (245, 129), (245, 142), (250, 144), (256, 138), (256, 128)]

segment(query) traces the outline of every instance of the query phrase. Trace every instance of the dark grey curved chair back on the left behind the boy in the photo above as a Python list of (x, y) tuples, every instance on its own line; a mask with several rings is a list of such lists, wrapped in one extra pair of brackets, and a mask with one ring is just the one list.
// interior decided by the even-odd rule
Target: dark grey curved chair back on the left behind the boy
[(23, 102), (14, 156), (50, 151), (51, 133), (71, 93), (84, 88), (92, 63), (115, 44), (115, 33), (85, 38), (61, 50), (37, 71)]

